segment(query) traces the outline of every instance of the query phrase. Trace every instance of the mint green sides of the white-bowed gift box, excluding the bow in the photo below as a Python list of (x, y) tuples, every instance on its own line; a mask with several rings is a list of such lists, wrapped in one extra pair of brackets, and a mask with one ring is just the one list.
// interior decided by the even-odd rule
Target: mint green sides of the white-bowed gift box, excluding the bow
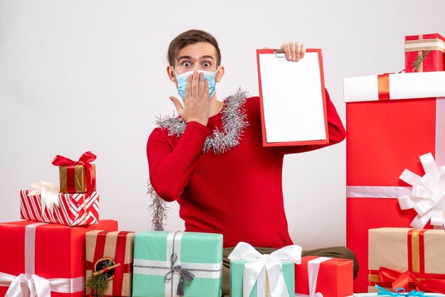
[[(242, 278), (244, 276), (244, 264), (247, 262), (245, 260), (230, 261), (230, 297), (243, 297)], [(289, 293), (289, 296), (295, 296), (295, 264), (290, 261), (281, 261), (281, 263), (287, 293)], [(258, 281), (255, 282), (249, 297), (269, 296), (266, 293), (258, 295), (257, 287)]]

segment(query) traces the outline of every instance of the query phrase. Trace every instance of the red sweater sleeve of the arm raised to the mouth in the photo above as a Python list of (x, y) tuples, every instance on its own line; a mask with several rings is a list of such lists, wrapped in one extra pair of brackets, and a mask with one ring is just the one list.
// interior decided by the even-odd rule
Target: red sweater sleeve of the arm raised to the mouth
[(177, 141), (173, 141), (162, 129), (156, 128), (151, 132), (146, 153), (150, 182), (159, 197), (168, 202), (181, 197), (209, 135), (210, 129), (195, 121), (187, 124)]

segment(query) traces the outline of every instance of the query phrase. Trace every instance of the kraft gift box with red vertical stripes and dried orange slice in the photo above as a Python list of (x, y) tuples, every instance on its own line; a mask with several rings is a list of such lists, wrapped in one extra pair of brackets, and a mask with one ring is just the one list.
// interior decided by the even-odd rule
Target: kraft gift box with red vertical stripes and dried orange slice
[[(93, 273), (102, 272), (109, 266), (114, 269), (104, 271), (108, 277), (105, 296), (132, 296), (134, 232), (93, 230), (87, 232), (86, 268), (87, 280)], [(87, 295), (92, 289), (87, 286)]]

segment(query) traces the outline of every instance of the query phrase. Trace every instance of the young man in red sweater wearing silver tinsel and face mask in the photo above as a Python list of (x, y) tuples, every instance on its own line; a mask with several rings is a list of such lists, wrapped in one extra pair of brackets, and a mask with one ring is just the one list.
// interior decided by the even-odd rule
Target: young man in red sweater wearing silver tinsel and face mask
[[(287, 60), (298, 62), (306, 48), (284, 43)], [(166, 117), (149, 136), (146, 147), (151, 185), (165, 201), (177, 200), (186, 231), (224, 236), (223, 295), (228, 294), (229, 254), (238, 242), (259, 252), (293, 244), (282, 195), (286, 153), (316, 146), (262, 146), (259, 97), (238, 90), (223, 101), (215, 84), (224, 76), (218, 43), (209, 33), (190, 30), (171, 41), (167, 74), (180, 99), (170, 97), (179, 117)], [(329, 145), (345, 138), (345, 129), (326, 92)], [(296, 127), (298, 129), (298, 127)], [(318, 249), (304, 255), (350, 258), (344, 247)]]

